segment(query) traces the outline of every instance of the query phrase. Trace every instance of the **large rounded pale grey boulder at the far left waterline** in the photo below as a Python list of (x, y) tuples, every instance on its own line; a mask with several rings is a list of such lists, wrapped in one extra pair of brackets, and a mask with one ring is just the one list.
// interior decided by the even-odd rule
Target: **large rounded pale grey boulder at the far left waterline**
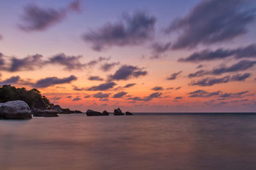
[(1, 117), (5, 119), (29, 119), (31, 110), (24, 101), (8, 101), (0, 106)]

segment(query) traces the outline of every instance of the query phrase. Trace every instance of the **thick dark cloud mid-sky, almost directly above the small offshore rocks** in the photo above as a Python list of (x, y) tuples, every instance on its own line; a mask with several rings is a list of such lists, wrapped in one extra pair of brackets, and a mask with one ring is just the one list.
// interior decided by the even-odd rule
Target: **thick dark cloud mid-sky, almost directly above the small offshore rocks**
[(129, 78), (138, 78), (147, 75), (147, 71), (142, 71), (137, 66), (121, 66), (113, 75), (109, 76), (110, 80), (128, 80)]

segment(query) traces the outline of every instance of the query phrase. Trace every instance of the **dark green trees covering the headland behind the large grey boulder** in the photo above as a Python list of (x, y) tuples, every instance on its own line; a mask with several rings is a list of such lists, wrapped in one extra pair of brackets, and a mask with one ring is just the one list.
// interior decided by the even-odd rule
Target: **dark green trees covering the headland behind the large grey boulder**
[(24, 87), (16, 88), (11, 85), (3, 85), (0, 87), (0, 103), (17, 100), (26, 102), (30, 108), (33, 108), (36, 101), (40, 100), (43, 100), (46, 106), (50, 105), (49, 99), (42, 96), (38, 89), (26, 90)]

